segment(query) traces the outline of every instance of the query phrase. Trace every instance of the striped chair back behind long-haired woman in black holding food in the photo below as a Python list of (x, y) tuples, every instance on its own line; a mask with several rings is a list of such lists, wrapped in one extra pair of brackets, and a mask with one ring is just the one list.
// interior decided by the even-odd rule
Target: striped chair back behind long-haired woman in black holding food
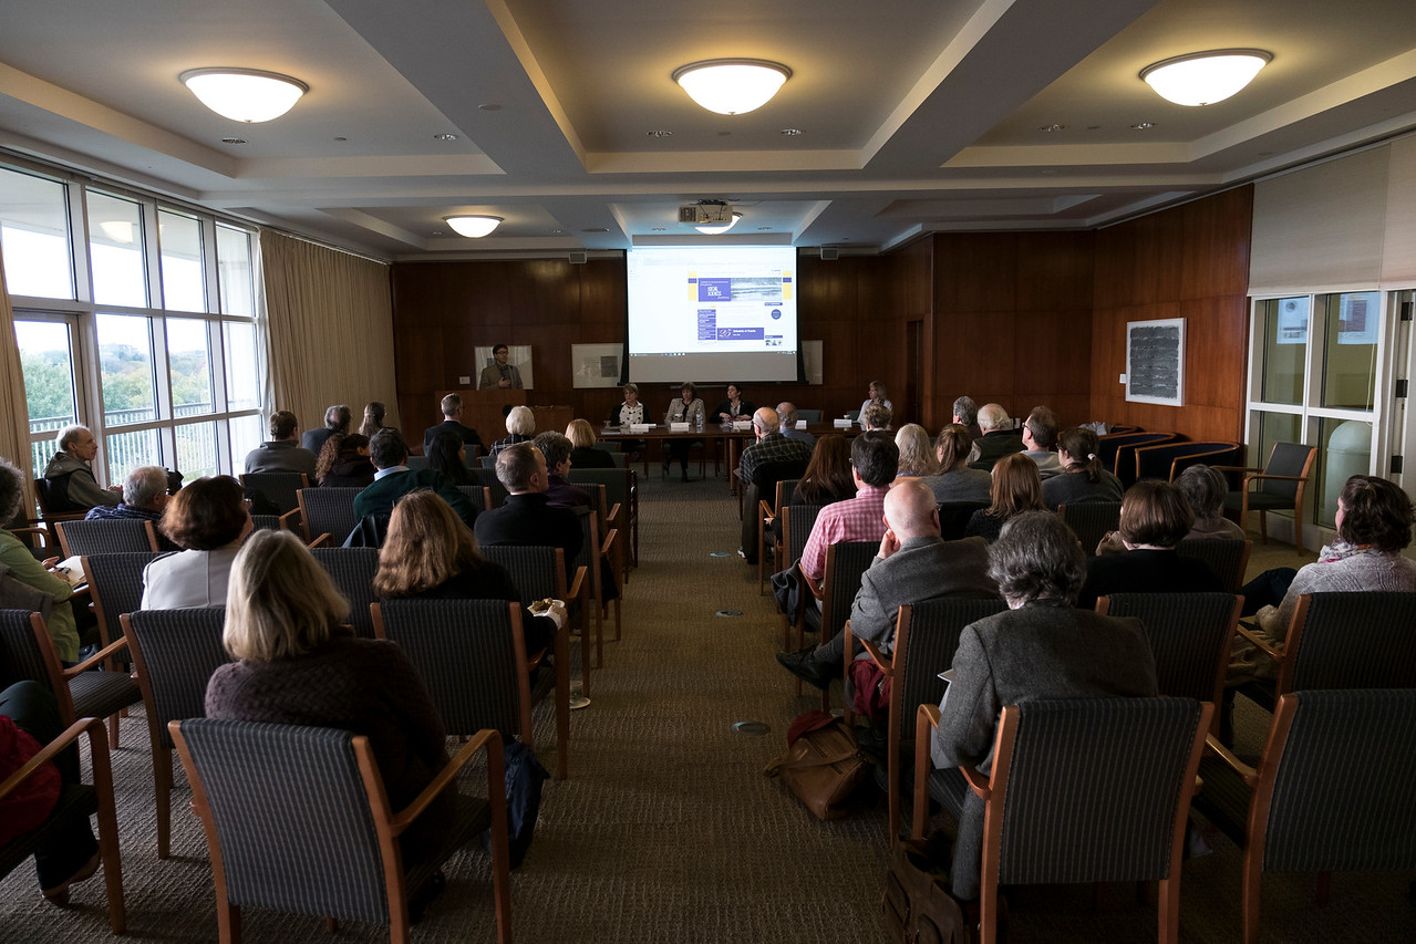
[(398, 643), (449, 735), (491, 727), (531, 743), (521, 607), (507, 600), (381, 600), (378, 634)]

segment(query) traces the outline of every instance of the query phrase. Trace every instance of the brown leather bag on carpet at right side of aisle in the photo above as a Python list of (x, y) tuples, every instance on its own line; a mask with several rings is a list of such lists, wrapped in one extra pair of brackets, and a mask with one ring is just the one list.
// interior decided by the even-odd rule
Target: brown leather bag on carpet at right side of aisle
[(817, 819), (840, 819), (850, 812), (851, 795), (869, 773), (869, 760), (844, 720), (807, 712), (792, 722), (787, 752), (763, 773), (782, 777)]

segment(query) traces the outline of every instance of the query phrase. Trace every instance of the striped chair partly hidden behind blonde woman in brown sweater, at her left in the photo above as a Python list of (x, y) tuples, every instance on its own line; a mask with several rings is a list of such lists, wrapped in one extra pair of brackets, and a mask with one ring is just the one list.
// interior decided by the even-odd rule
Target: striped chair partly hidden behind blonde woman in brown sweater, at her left
[(135, 610), (122, 617), (147, 715), (157, 797), (157, 858), (171, 842), (173, 739), (167, 722), (207, 713), (207, 682), (231, 661), (221, 645), (225, 607)]

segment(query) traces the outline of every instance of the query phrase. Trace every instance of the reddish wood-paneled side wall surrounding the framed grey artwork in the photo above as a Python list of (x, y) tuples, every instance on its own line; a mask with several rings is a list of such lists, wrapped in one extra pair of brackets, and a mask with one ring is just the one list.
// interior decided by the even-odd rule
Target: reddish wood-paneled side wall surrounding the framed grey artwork
[[(1253, 187), (1096, 234), (1092, 413), (1189, 439), (1243, 436)], [(1185, 406), (1127, 403), (1126, 323), (1185, 318)]]

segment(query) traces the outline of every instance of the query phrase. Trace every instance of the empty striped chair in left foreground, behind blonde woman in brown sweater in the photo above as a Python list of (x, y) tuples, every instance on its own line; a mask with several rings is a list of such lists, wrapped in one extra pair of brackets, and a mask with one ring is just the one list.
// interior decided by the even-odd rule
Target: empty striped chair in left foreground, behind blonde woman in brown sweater
[[(479, 732), (404, 810), (391, 810), (368, 737), (331, 727), (193, 718), (171, 722), (207, 834), (222, 941), (241, 940), (245, 907), (387, 923), (409, 940), (409, 896), (453, 852), (491, 829), (497, 941), (511, 941), (501, 737)], [(456, 794), (440, 848), (408, 858), (399, 836), (457, 771), (486, 753), (487, 800)]]

